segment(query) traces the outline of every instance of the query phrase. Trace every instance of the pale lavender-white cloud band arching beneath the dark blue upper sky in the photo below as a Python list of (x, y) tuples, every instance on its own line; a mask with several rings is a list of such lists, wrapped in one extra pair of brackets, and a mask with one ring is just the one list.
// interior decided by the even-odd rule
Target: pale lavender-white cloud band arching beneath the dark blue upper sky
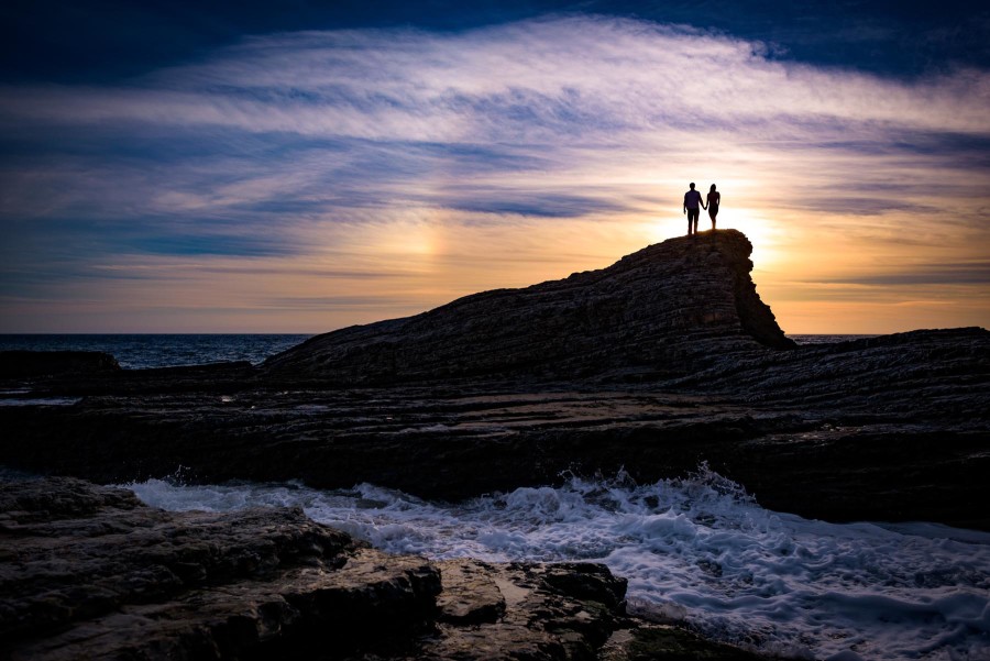
[[(758, 43), (628, 20), (570, 18), (432, 34), (255, 37), (132, 87), (4, 95), (21, 121), (221, 125), (373, 140), (483, 141), (680, 123), (889, 122), (986, 132), (990, 78), (914, 84), (768, 60)], [(72, 106), (57, 101), (70, 98)]]

